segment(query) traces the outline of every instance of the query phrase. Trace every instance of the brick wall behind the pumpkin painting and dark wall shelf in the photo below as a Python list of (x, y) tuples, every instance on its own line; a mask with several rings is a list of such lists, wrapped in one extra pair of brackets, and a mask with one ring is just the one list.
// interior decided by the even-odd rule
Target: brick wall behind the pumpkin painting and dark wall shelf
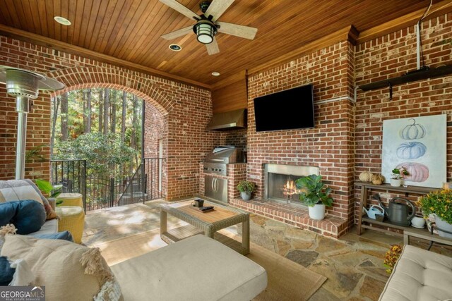
[[(430, 68), (452, 63), (452, 14), (426, 20), (421, 27), (424, 61)], [(403, 75), (416, 69), (416, 32), (408, 27), (359, 44), (355, 51), (357, 85)], [(447, 178), (452, 179), (452, 76), (410, 82), (388, 88), (358, 91), (355, 127), (355, 180), (362, 171), (381, 172), (383, 121), (446, 114)], [(391, 197), (396, 195), (391, 194)], [(356, 193), (359, 199), (359, 190)], [(412, 197), (415, 200), (417, 196)]]

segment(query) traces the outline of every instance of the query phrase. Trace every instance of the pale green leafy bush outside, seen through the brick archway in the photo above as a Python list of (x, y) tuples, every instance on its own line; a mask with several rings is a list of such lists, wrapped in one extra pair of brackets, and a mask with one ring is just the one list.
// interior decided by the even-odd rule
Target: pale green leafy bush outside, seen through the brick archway
[(119, 166), (133, 164), (138, 151), (121, 142), (119, 134), (103, 135), (86, 133), (74, 140), (57, 144), (58, 154), (54, 159), (86, 160), (88, 174), (108, 175), (114, 177)]

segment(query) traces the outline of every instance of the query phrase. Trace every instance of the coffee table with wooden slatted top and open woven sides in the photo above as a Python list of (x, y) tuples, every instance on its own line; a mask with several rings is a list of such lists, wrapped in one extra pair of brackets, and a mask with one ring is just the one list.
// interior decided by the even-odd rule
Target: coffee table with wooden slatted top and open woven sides
[[(203, 213), (197, 207), (191, 206), (193, 201), (178, 202), (174, 204), (163, 204), (160, 206), (160, 238), (168, 244), (176, 242), (191, 235), (204, 233), (209, 238), (214, 238), (215, 232), (242, 223), (242, 244), (227, 238), (225, 235), (215, 235), (220, 237), (220, 242), (236, 250), (241, 254), (249, 253), (249, 214), (220, 204), (204, 201), (204, 206), (213, 206), (215, 210)], [(179, 227), (167, 230), (167, 214), (177, 217), (189, 227)]]

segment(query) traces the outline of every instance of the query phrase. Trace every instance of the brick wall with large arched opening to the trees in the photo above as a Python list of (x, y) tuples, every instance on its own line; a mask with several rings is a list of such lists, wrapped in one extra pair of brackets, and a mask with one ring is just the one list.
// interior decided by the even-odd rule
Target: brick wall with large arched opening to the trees
[[(4, 65), (60, 80), (67, 87), (64, 91), (110, 87), (136, 94), (155, 106), (167, 121), (167, 198), (198, 193), (199, 161), (218, 143), (218, 135), (205, 130), (212, 116), (209, 91), (7, 37), (0, 37), (0, 60)], [(31, 141), (35, 145), (49, 144), (49, 94), (42, 93), (35, 104), (29, 116), (30, 147)], [(13, 99), (6, 97), (4, 85), (0, 87), (0, 107), (1, 152), (5, 154), (0, 158), (0, 178), (6, 179), (13, 178), (14, 173), (16, 113)], [(49, 158), (48, 148), (44, 149), (44, 156)], [(28, 178), (40, 172), (40, 176), (48, 178), (47, 160), (28, 166)]]

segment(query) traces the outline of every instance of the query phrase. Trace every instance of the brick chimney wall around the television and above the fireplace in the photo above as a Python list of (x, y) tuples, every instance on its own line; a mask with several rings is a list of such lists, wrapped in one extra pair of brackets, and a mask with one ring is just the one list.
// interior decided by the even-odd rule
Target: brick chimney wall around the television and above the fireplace
[[(335, 199), (328, 214), (351, 220), (354, 112), (353, 46), (344, 41), (249, 77), (247, 178), (263, 197), (263, 164), (319, 166)], [(314, 85), (315, 128), (256, 133), (255, 97)]]

